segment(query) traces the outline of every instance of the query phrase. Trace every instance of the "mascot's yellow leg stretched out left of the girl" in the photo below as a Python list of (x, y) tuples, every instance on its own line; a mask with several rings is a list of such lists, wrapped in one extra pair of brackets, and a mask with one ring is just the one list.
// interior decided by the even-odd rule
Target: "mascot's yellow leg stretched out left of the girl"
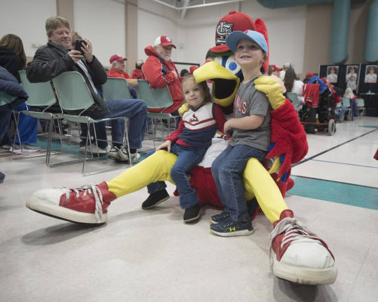
[(109, 191), (120, 197), (146, 187), (155, 181), (170, 181), (170, 170), (177, 160), (175, 154), (159, 150), (146, 159), (107, 181)]

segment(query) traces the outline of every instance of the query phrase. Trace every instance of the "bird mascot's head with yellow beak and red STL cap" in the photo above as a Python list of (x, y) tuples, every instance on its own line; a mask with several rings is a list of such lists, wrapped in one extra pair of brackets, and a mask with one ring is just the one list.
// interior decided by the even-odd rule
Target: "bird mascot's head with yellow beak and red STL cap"
[[(235, 31), (245, 32), (254, 30), (265, 37), (268, 45), (267, 55), (269, 56), (269, 43), (267, 27), (261, 19), (254, 22), (243, 12), (230, 11), (219, 20), (215, 29), (215, 46), (209, 49), (209, 54), (214, 56), (214, 62), (207, 62), (194, 71), (193, 75), (197, 82), (212, 80), (212, 95), (214, 102), (227, 107), (234, 102), (240, 78), (241, 67), (236, 64), (233, 52), (227, 47), (225, 40), (229, 34)], [(263, 69), (268, 71), (269, 59), (264, 63)]]

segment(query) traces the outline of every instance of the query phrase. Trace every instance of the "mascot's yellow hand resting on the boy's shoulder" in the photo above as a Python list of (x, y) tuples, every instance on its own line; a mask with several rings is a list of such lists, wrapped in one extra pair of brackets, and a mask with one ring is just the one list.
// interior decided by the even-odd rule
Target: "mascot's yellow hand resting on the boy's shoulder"
[(286, 98), (282, 95), (281, 85), (267, 75), (262, 75), (258, 77), (255, 81), (255, 88), (262, 93), (267, 95), (270, 105), (273, 109), (285, 104)]

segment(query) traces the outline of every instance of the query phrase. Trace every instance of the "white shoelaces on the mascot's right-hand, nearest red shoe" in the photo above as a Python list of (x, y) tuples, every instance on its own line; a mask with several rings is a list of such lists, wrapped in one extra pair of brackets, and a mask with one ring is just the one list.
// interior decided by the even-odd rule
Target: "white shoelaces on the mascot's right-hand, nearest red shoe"
[(320, 238), (307, 229), (307, 227), (302, 224), (297, 218), (284, 218), (274, 228), (273, 231), (269, 234), (269, 259), (271, 259), (271, 244), (274, 238), (280, 233), (285, 233), (282, 238), (281, 246), (282, 248), (287, 242), (293, 242), (300, 239), (311, 239), (317, 240), (320, 244)]

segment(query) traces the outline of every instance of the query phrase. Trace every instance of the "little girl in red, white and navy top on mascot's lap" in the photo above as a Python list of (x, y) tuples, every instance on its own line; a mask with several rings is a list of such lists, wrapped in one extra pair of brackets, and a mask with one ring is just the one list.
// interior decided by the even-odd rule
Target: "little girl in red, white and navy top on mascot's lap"
[[(223, 132), (225, 116), (221, 108), (212, 102), (206, 82), (196, 83), (193, 75), (187, 75), (181, 84), (184, 100), (189, 106), (181, 117), (177, 130), (156, 148), (166, 149), (176, 154), (177, 161), (170, 171), (180, 194), (180, 206), (184, 211), (184, 222), (199, 219), (199, 198), (195, 189), (190, 187), (186, 175), (192, 167), (200, 163), (210, 147), (212, 137), (218, 128)], [(155, 152), (153, 150), (148, 154)], [(147, 186), (150, 196), (143, 202), (142, 209), (151, 209), (169, 198), (162, 181)]]

